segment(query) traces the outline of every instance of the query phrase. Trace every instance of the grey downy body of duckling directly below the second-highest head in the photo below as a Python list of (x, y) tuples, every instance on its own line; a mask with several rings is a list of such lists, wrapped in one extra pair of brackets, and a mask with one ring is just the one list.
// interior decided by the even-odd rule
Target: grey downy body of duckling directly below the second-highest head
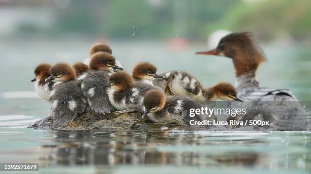
[(81, 80), (81, 90), (90, 109), (96, 113), (106, 114), (113, 110), (106, 91), (109, 85), (109, 75), (104, 70), (88, 71)]

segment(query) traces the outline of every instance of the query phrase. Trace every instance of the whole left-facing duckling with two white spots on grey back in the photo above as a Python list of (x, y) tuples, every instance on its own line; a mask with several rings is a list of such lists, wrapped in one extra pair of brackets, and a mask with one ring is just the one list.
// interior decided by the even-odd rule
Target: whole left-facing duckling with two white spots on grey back
[(70, 65), (58, 63), (50, 68), (50, 74), (47, 80), (59, 82), (50, 99), (52, 127), (66, 126), (85, 111), (87, 102), (81, 92), (81, 83), (76, 80)]

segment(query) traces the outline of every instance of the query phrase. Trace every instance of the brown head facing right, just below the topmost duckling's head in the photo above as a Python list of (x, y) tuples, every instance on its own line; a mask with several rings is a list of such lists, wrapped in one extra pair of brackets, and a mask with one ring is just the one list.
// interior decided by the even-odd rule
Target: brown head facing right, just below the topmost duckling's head
[(91, 60), (89, 62), (89, 69), (105, 69), (107, 71), (123, 70), (123, 68), (117, 67), (115, 65), (115, 58), (112, 55), (104, 52), (96, 53), (91, 57)]

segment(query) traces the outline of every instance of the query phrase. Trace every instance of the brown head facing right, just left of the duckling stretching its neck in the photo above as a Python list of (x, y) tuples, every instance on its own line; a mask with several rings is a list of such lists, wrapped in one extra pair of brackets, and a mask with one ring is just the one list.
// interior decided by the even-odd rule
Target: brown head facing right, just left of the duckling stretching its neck
[(163, 75), (157, 74), (157, 67), (148, 62), (141, 62), (137, 64), (133, 69), (133, 77), (146, 80), (152, 80), (153, 78), (164, 78)]

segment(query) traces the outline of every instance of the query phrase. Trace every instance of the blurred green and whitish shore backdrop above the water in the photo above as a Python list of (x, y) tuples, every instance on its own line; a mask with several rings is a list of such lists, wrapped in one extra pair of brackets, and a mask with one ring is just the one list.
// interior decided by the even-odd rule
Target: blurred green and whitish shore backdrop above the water
[[(223, 28), (253, 31), (262, 40), (309, 41), (308, 0), (0, 1), (1, 34), (62, 37), (202, 39)], [(6, 12), (11, 12), (10, 14)], [(134, 27), (133, 27), (134, 26)]]

